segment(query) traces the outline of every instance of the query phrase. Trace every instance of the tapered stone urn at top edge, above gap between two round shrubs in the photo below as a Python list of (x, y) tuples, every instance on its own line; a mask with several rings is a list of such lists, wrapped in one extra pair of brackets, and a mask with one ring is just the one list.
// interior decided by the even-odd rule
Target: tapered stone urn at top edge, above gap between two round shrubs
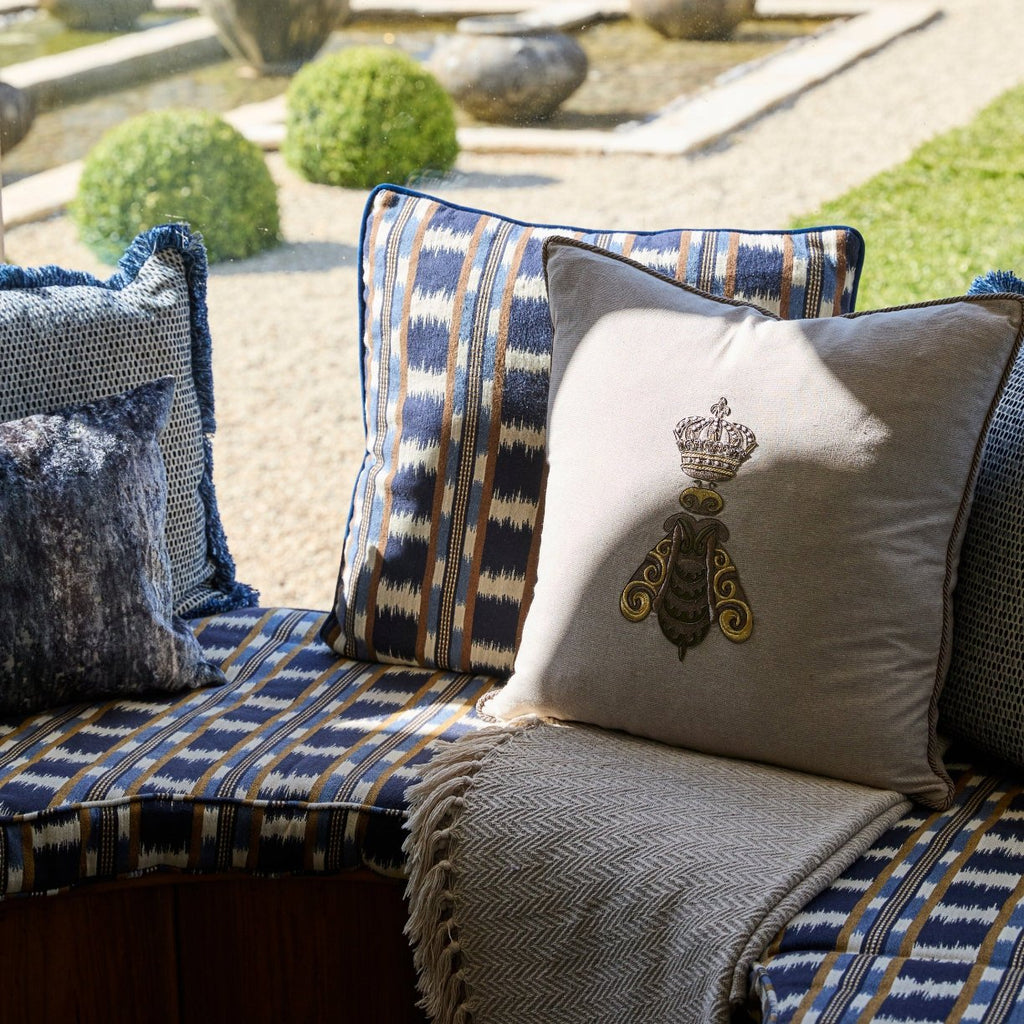
[(290, 75), (348, 16), (348, 0), (200, 0), (227, 50), (260, 75)]

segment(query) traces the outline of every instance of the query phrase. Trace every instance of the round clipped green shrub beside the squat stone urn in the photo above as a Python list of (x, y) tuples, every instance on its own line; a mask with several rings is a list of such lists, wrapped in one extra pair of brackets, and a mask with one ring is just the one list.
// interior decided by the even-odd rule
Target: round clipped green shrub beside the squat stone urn
[(352, 46), (303, 67), (287, 96), (285, 160), (310, 181), (369, 188), (455, 163), (455, 108), (412, 57)]

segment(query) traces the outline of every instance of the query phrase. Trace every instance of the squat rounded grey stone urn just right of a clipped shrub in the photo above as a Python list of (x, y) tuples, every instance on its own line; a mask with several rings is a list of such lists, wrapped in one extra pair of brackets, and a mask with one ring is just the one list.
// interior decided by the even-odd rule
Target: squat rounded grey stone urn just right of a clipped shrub
[(464, 17), (427, 63), (452, 98), (480, 121), (543, 121), (587, 78), (571, 36), (501, 14)]

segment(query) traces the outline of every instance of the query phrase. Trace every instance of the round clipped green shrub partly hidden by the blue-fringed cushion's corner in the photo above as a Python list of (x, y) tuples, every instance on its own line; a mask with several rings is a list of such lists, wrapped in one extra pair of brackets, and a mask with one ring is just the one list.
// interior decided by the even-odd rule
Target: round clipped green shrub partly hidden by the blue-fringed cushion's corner
[(206, 111), (151, 111), (90, 151), (71, 207), (82, 241), (115, 262), (140, 231), (183, 221), (210, 262), (281, 241), (278, 190), (259, 147)]

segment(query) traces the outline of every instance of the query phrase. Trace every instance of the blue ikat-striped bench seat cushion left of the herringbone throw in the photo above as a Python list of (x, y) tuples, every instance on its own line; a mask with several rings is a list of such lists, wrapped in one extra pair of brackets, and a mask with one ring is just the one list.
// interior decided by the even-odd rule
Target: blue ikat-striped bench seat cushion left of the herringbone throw
[(0, 721), (0, 896), (158, 869), (400, 873), (406, 790), (483, 676), (339, 658), (324, 613), (193, 625), (226, 686)]

